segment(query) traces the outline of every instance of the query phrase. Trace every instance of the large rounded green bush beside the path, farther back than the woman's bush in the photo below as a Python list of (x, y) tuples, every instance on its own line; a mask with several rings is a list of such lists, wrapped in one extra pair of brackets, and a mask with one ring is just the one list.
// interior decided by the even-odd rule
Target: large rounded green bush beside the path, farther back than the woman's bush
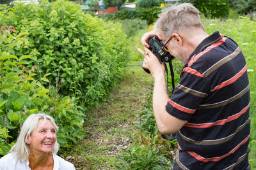
[(42, 75), (51, 73), (51, 85), (60, 94), (71, 93), (86, 109), (104, 99), (129, 59), (120, 24), (84, 14), (70, 1), (3, 7), (1, 16), (0, 24), (29, 32), (29, 44), (16, 55), (31, 55), (31, 66)]

